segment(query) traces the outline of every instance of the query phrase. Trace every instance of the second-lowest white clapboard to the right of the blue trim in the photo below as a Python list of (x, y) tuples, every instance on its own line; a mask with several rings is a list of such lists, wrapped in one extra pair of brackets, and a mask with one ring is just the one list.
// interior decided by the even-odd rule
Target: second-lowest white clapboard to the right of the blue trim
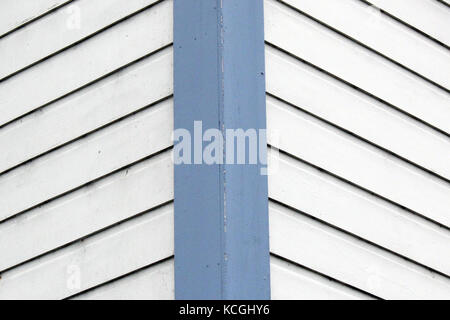
[(449, 299), (450, 280), (270, 204), (271, 251), (384, 299)]

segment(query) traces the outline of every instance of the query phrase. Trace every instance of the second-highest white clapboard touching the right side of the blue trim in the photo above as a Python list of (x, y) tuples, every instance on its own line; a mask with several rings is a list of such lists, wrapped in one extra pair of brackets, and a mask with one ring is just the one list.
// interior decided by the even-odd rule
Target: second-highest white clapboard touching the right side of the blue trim
[(450, 179), (450, 139), (376, 99), (266, 47), (267, 91)]

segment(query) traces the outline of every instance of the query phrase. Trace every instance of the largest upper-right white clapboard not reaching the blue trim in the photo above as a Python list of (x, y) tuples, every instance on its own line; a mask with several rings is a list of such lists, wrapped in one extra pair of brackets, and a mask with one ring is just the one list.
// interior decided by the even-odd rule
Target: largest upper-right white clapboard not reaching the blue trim
[(450, 88), (450, 52), (395, 19), (380, 14), (380, 11), (374, 10), (372, 6), (360, 0), (284, 2), (428, 79)]

